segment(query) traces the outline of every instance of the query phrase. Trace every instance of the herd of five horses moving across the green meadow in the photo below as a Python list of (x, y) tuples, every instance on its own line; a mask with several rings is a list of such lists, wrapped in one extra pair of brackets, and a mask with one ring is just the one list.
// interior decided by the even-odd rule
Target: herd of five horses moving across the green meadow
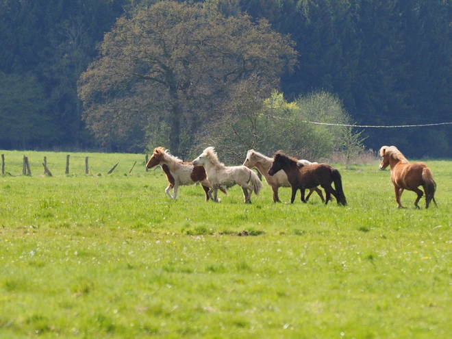
[[(436, 182), (426, 164), (408, 162), (401, 151), (394, 146), (381, 147), (379, 155), (382, 158), (380, 168), (384, 170), (390, 166), (398, 208), (405, 208), (401, 203), (403, 190), (416, 192), (417, 198), (414, 202), (416, 208), (419, 208), (418, 202), (424, 194), (425, 208), (429, 208), (431, 201), (436, 204), (434, 198)], [(192, 162), (183, 162), (171, 155), (167, 149), (156, 147), (146, 166), (147, 168), (162, 167), (169, 183), (165, 192), (170, 199), (177, 198), (179, 186), (199, 183), (205, 192), (205, 201), (212, 199), (218, 202), (220, 201), (218, 190), (227, 194), (227, 188), (238, 185), (242, 188), (244, 202), (251, 203), (251, 194), (253, 192), (259, 194), (262, 189), (262, 181), (252, 171), (252, 168), (256, 168), (271, 186), (275, 203), (281, 202), (278, 197), (279, 188), (290, 187), (292, 188), (291, 203), (294, 202), (297, 191), (300, 190), (303, 203), (307, 202), (313, 192), (316, 192), (325, 204), (331, 200), (332, 195), (338, 205), (347, 205), (342, 188), (342, 177), (336, 168), (329, 164), (298, 160), (282, 151), (277, 151), (273, 158), (270, 158), (250, 149), (241, 166), (225, 166), (218, 160), (214, 147), (207, 147)], [(325, 199), (319, 186), (325, 190)], [(419, 189), (419, 186), (423, 187), (424, 192)], [(305, 190), (309, 190), (306, 197)]]

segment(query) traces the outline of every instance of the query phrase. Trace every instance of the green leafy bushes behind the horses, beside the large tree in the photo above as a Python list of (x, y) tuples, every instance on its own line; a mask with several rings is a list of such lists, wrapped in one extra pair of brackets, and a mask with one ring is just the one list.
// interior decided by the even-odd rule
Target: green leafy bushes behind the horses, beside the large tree
[(260, 101), (248, 89), (240, 88), (237, 93), (240, 99), (233, 100), (221, 118), (206, 127), (208, 133), (198, 136), (197, 155), (210, 145), (223, 154), (222, 161), (234, 164), (241, 163), (249, 149), (268, 156), (284, 150), (295, 158), (310, 161), (329, 158), (334, 153), (349, 158), (362, 153), (362, 140), (349, 127), (306, 122), (351, 123), (338, 98), (316, 92), (288, 103), (281, 93), (273, 92)]

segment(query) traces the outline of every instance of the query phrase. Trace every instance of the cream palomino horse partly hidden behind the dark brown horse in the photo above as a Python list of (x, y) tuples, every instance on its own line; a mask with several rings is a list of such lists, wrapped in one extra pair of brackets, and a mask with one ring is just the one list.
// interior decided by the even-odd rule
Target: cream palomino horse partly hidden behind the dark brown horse
[[(317, 164), (316, 162), (308, 162), (307, 160), (298, 160), (298, 162), (307, 165)], [(273, 190), (273, 202), (280, 203), (281, 201), (278, 197), (278, 189), (280, 187), (290, 187), (290, 183), (284, 171), (279, 171), (272, 176), (268, 175), (268, 169), (270, 169), (271, 164), (273, 164), (273, 158), (268, 158), (262, 153), (256, 152), (254, 149), (250, 149), (247, 153), (247, 159), (245, 159), (243, 166), (247, 166), (248, 168), (258, 168), (258, 171), (264, 175), (267, 184), (270, 185)], [(318, 196), (321, 197), (322, 202), (325, 202), (322, 191), (317, 187), (310, 188), (309, 193), (307, 193), (306, 196), (306, 201), (309, 199), (314, 190), (317, 192)]]

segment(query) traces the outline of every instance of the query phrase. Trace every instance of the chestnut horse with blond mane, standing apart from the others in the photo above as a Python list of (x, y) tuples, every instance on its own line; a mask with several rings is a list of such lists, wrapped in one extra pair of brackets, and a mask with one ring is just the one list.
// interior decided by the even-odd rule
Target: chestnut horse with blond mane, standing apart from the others
[(398, 208), (405, 208), (400, 197), (403, 190), (412, 190), (418, 194), (414, 206), (419, 208), (418, 202), (424, 192), (418, 187), (423, 186), (425, 191), (425, 208), (429, 208), (431, 201), (435, 201), (436, 182), (430, 168), (423, 162), (410, 163), (407, 158), (395, 146), (383, 146), (379, 150), (382, 158), (380, 169), (384, 170), (388, 165), (391, 168), (391, 181), (394, 185)]

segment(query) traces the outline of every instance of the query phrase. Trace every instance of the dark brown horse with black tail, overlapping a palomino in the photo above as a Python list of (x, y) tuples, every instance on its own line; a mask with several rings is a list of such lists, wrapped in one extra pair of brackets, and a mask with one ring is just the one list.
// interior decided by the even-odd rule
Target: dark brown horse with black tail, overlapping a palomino
[[(268, 170), (269, 175), (275, 175), (278, 171), (283, 170), (292, 187), (292, 197), (290, 203), (295, 200), (297, 190), (301, 192), (301, 201), (305, 203), (305, 189), (322, 186), (325, 190), (326, 199), (325, 205), (331, 200), (331, 194), (338, 201), (338, 205), (347, 205), (344, 191), (342, 190), (342, 178), (336, 168), (329, 166), (329, 164), (311, 164), (305, 165), (297, 161), (297, 159), (289, 157), (277, 151), (273, 157), (273, 164)], [(334, 182), (333, 189), (331, 183)]]

